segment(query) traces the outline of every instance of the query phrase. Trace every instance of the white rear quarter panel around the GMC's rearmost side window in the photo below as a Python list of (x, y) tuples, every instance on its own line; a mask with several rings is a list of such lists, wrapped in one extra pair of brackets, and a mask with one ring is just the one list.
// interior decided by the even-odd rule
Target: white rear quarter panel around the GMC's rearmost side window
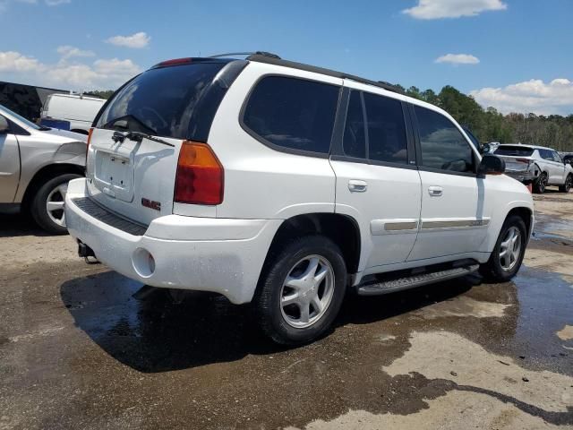
[[(227, 91), (211, 125), (209, 144), (225, 168), (225, 195), (219, 218), (288, 219), (333, 212), (336, 177), (328, 158), (274, 150), (245, 132), (241, 108), (265, 74), (285, 74), (342, 85), (316, 73), (252, 62)], [(278, 100), (279, 101), (279, 100)]]

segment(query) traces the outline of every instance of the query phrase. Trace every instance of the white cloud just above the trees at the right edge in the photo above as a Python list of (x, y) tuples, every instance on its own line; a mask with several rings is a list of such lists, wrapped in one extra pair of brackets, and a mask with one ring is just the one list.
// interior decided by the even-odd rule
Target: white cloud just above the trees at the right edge
[(483, 107), (495, 107), (509, 112), (537, 115), (569, 115), (573, 113), (573, 82), (554, 79), (545, 83), (539, 79), (518, 82), (504, 88), (473, 90), (470, 95)]

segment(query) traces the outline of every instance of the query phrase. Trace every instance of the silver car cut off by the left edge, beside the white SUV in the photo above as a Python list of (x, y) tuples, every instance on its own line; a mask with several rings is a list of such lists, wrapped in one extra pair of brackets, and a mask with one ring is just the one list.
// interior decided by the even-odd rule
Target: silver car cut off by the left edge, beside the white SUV
[(83, 176), (87, 137), (40, 127), (0, 105), (0, 213), (30, 211), (41, 228), (66, 233), (67, 183)]

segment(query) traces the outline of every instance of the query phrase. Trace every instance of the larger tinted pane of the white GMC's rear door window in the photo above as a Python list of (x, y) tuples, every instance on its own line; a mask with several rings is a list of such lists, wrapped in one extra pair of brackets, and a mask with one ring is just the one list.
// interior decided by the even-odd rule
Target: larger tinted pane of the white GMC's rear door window
[(364, 106), (368, 125), (368, 158), (407, 164), (406, 124), (402, 103), (365, 92)]

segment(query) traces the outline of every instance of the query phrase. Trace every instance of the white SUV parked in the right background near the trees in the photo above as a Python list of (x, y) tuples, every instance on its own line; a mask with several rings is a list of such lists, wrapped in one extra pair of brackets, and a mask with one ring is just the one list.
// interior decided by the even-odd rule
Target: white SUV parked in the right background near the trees
[(573, 168), (556, 150), (518, 143), (501, 144), (493, 153), (504, 159), (506, 175), (533, 184), (535, 193), (544, 193), (547, 185), (557, 185), (560, 192), (569, 193), (573, 185)]

